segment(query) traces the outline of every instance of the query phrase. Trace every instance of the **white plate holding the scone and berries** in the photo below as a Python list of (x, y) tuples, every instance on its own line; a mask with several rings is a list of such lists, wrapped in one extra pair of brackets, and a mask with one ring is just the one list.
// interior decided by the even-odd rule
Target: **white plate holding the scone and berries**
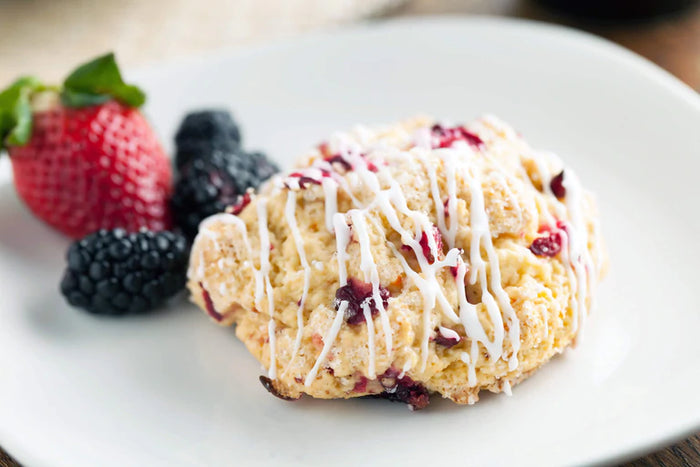
[[(612, 269), (582, 344), (512, 397), (285, 403), (191, 306), (99, 319), (57, 292), (66, 241), (0, 188), (0, 443), (30, 465), (570, 465), (700, 429), (700, 99), (588, 35), (399, 21), (131, 74), (170, 139), (224, 104), (280, 161), (333, 129), (426, 112), (513, 123), (598, 193)], [(7, 172), (7, 161), (4, 172)]]

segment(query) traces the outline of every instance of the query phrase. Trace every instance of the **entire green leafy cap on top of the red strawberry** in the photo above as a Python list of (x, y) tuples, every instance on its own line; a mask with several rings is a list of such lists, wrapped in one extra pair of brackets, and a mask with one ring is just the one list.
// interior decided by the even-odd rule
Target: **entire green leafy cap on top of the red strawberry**
[(55, 90), (67, 107), (99, 105), (114, 99), (129, 107), (141, 107), (146, 95), (122, 78), (113, 53), (95, 58), (76, 68), (61, 88), (43, 85), (37, 78), (19, 78), (0, 91), (0, 150), (22, 146), (32, 136), (32, 97)]

